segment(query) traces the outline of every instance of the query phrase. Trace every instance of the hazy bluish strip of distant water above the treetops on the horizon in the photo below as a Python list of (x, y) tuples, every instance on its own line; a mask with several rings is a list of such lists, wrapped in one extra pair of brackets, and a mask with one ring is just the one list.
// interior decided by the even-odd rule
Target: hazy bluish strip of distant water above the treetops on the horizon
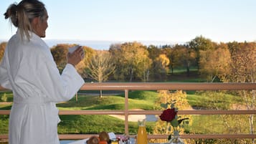
[[(1, 42), (7, 42), (7, 40), (0, 39)], [(44, 42), (47, 43), (49, 47), (53, 47), (57, 44), (80, 44), (82, 46), (91, 47), (92, 49), (105, 49), (108, 50), (111, 44), (123, 44), (121, 41), (90, 41), (90, 40), (72, 40), (72, 39), (44, 39)], [(130, 41), (127, 41), (130, 42)], [(134, 42), (134, 41), (133, 41)], [(140, 42), (140, 41), (136, 41)], [(143, 45), (154, 45), (156, 47), (160, 47), (163, 45), (172, 45), (172, 44), (181, 44), (182, 42), (158, 42), (158, 41), (141, 41)]]

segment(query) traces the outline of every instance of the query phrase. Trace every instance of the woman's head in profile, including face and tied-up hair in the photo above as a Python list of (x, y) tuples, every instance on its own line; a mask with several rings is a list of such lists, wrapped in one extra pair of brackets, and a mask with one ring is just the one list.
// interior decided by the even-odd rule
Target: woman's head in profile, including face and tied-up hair
[(22, 0), (19, 4), (11, 4), (4, 16), (19, 29), (22, 38), (26, 36), (29, 39), (29, 31), (45, 37), (48, 14), (41, 1)]

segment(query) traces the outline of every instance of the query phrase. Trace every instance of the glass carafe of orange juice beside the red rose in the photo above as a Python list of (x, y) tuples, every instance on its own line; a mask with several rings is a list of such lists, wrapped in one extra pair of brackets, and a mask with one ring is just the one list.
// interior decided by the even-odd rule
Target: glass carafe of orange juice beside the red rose
[(137, 134), (137, 144), (148, 144), (148, 135), (146, 131), (146, 120), (138, 120), (138, 134)]

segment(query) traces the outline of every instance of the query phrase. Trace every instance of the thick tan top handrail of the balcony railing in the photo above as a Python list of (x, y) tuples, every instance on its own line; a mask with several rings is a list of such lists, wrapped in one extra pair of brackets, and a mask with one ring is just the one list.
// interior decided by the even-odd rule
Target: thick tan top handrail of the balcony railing
[(256, 83), (103, 82), (85, 83), (81, 90), (256, 90)]

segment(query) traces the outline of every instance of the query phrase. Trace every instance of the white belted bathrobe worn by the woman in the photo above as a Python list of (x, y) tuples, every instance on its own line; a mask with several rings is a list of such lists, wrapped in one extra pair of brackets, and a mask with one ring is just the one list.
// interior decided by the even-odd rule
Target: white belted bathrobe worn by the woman
[(84, 84), (72, 64), (60, 75), (49, 47), (36, 34), (9, 40), (0, 64), (0, 85), (14, 93), (9, 144), (57, 144), (56, 102), (70, 100)]

